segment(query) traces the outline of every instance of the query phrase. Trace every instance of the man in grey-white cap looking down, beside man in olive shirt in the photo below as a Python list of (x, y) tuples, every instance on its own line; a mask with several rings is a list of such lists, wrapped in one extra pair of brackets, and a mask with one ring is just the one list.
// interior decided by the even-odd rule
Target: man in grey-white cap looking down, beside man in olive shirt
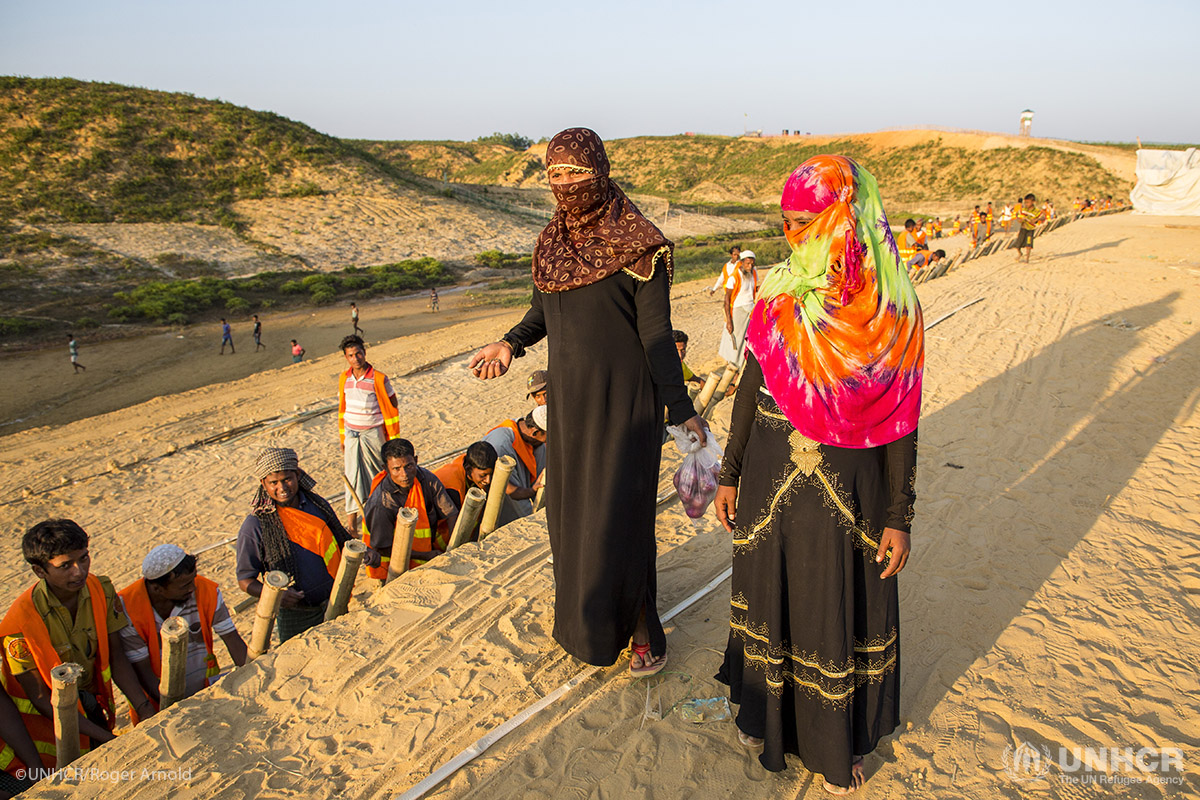
[[(236, 666), (246, 663), (246, 643), (229, 618), (221, 590), (196, 573), (196, 557), (179, 545), (158, 545), (150, 551), (142, 561), (142, 577), (121, 589), (120, 595), (131, 622), (121, 630), (125, 655), (156, 705), (162, 676), (158, 630), (172, 616), (182, 616), (188, 626), (186, 697), (208, 686), (221, 672), (214, 633), (224, 642)], [(137, 724), (137, 714), (131, 716)]]

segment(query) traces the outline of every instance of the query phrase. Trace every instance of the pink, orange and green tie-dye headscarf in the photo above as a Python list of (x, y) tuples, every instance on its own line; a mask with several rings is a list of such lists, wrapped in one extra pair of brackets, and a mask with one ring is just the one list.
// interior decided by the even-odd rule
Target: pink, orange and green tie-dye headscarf
[(924, 323), (875, 178), (844, 156), (815, 156), (787, 179), (780, 205), (817, 216), (787, 231), (792, 253), (750, 315), (767, 390), (822, 444), (907, 435), (920, 416)]

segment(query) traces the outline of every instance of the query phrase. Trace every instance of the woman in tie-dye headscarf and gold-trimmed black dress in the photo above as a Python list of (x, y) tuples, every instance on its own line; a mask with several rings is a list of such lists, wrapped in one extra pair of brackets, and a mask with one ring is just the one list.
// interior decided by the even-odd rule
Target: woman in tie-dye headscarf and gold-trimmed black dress
[(751, 312), (714, 504), (733, 534), (719, 678), (763, 766), (797, 754), (845, 794), (900, 718), (924, 329), (866, 170), (816, 156), (780, 204), (792, 253)]

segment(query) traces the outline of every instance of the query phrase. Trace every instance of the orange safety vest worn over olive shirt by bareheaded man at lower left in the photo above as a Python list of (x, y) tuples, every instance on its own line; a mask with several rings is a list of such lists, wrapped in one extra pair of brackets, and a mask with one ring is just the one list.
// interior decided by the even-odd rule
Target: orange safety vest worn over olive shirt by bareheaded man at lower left
[[(91, 616), (96, 626), (96, 643), (100, 650), (97, 661), (94, 664), (94, 669), (98, 668), (96, 672), (100, 675), (101, 691), (97, 699), (101, 702), (101, 708), (108, 718), (109, 727), (112, 727), (113, 721), (116, 718), (116, 712), (113, 708), (113, 673), (108, 664), (108, 603), (104, 599), (104, 588), (101, 585), (100, 578), (94, 575), (88, 576), (88, 596), (91, 599)], [(62, 663), (62, 658), (59, 656), (59, 651), (54, 649), (54, 643), (50, 640), (50, 631), (46, 627), (46, 620), (37, 613), (37, 607), (34, 604), (34, 587), (26, 589), (13, 602), (12, 608), (5, 614), (4, 621), (0, 622), (0, 640), (16, 633), (25, 636), (24, 644), (34, 655), (37, 674), (42, 676), (42, 681), (46, 684), (47, 690), (49, 690), (53, 685), (50, 681), (50, 670)], [(34, 740), (37, 752), (42, 756), (42, 766), (54, 769), (58, 760), (54, 720), (43, 717), (37, 711), (32, 700), (25, 694), (25, 690), (22, 688), (17, 676), (8, 668), (8, 658), (0, 657), (0, 662), (2, 662), (2, 675), (0, 678), (2, 678), (4, 688), (16, 704), (17, 710), (20, 712), (22, 722), (25, 723), (25, 729), (29, 732), (29, 736)], [(79, 704), (79, 712), (83, 712), (82, 703)], [(88, 736), (79, 734), (80, 752), (86, 753), (89, 747), (90, 740)], [(0, 769), (11, 772), (18, 764), (20, 764), (20, 759), (16, 757), (11, 747), (5, 745), (4, 750), (0, 751)], [(24, 766), (34, 765), (24, 764)]]

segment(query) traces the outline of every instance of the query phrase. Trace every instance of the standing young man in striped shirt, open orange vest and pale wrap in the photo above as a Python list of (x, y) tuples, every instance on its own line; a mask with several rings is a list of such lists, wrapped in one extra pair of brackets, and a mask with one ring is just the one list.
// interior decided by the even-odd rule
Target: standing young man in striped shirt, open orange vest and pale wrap
[[(400, 435), (400, 409), (388, 375), (367, 361), (367, 345), (358, 336), (342, 339), (348, 369), (337, 379), (337, 434), (342, 440), (346, 479), (359, 500), (371, 493), (371, 479), (383, 469), (383, 443)], [(358, 503), (346, 494), (347, 528), (358, 530)]]

